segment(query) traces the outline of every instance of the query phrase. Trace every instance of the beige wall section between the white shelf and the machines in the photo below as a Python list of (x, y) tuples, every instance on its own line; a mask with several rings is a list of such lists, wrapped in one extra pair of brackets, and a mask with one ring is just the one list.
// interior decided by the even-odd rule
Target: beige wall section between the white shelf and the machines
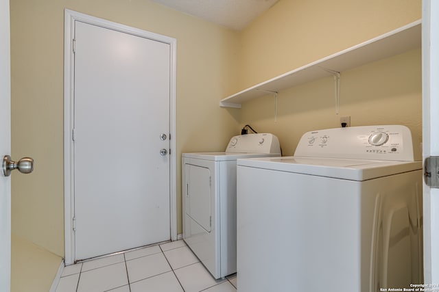
[(416, 137), (422, 134), (420, 49), (342, 72), (339, 114), (335, 114), (333, 77), (283, 90), (244, 103), (242, 125), (277, 135), (283, 155), (293, 155), (302, 134), (340, 127), (340, 116), (351, 126), (404, 124)]

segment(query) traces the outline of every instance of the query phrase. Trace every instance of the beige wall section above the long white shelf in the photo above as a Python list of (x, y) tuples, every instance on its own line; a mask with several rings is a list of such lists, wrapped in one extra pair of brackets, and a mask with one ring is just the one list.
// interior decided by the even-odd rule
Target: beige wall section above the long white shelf
[(421, 18), (421, 0), (279, 0), (241, 33), (241, 89)]

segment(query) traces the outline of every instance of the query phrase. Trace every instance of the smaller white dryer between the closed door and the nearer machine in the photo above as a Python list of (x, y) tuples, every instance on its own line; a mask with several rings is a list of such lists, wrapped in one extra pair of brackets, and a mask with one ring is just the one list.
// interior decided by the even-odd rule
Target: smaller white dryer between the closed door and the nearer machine
[(226, 152), (182, 154), (183, 239), (215, 278), (236, 272), (236, 161), (276, 156), (268, 133), (232, 137)]

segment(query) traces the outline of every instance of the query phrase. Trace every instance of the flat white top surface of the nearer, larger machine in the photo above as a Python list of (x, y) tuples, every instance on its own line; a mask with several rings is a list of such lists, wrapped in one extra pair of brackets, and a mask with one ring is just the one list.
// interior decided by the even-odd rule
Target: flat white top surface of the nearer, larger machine
[(379, 161), (322, 157), (268, 157), (239, 159), (238, 166), (294, 172), (313, 176), (366, 181), (422, 169), (422, 161)]

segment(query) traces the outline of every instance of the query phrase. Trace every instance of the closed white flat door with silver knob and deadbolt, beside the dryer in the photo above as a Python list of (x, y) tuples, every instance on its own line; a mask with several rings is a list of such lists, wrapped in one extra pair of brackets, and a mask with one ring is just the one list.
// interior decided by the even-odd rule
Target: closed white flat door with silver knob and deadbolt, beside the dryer
[(77, 260), (171, 238), (169, 68), (169, 44), (75, 21)]

